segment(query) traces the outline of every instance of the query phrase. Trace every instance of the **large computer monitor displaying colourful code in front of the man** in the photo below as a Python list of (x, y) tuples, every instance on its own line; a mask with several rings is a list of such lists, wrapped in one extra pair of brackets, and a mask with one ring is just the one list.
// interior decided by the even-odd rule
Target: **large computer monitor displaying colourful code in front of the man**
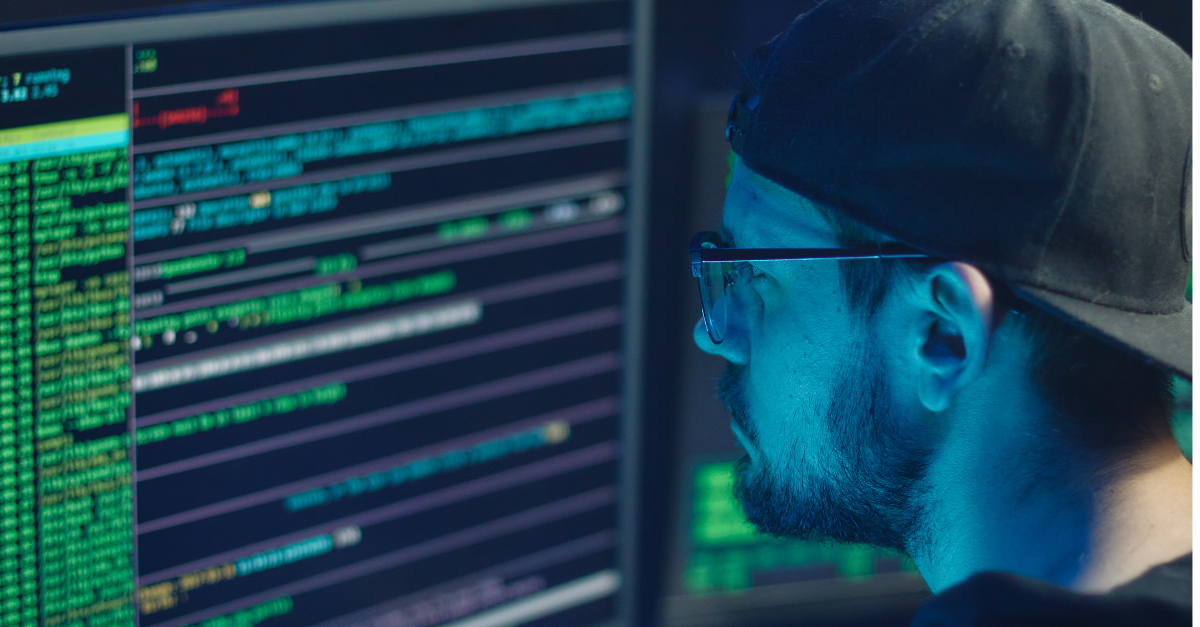
[(623, 622), (640, 6), (0, 34), (0, 626)]

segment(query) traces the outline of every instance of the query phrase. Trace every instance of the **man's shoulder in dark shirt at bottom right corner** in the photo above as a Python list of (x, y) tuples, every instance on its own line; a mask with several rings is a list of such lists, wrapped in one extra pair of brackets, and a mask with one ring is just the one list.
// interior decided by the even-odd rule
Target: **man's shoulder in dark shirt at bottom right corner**
[(1192, 555), (1106, 595), (1009, 573), (979, 573), (922, 605), (913, 627), (1192, 625)]

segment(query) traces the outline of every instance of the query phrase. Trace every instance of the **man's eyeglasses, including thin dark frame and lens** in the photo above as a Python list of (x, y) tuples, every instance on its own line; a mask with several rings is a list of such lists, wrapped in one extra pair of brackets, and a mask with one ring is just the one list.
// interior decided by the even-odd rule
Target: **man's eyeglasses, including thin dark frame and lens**
[(700, 283), (700, 304), (704, 327), (713, 344), (725, 340), (730, 307), (744, 282), (749, 261), (816, 261), (816, 259), (914, 259), (930, 257), (904, 244), (886, 243), (877, 246), (848, 249), (732, 249), (712, 231), (691, 238), (691, 275)]

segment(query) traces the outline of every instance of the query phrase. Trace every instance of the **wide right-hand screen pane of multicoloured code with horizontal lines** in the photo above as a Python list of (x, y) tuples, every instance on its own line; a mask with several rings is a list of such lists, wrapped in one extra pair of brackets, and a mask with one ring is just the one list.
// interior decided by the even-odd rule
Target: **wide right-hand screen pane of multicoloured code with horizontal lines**
[(134, 49), (142, 625), (612, 616), (628, 16), (484, 16)]

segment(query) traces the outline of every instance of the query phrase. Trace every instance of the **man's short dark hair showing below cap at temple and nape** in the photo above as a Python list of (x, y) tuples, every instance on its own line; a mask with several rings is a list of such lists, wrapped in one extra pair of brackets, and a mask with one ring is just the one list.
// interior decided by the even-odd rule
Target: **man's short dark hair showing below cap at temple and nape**
[[(760, 46), (743, 66), (744, 95), (761, 91), (775, 40)], [(816, 204), (816, 203), (815, 203)], [(834, 208), (821, 207), (842, 246), (877, 244), (883, 234)], [(840, 261), (839, 270), (851, 310), (870, 318), (882, 305), (896, 280), (914, 276), (935, 262), (905, 259)], [(1140, 443), (1170, 437), (1174, 410), (1171, 376), (1124, 351), (1092, 338), (1054, 315), (1031, 305), (1021, 306), (1001, 282), (991, 281), (1006, 301), (1020, 311), (1019, 323), (1033, 353), (1030, 381), (1055, 419), (1049, 426), (1064, 437), (1099, 450), (1132, 449)]]

